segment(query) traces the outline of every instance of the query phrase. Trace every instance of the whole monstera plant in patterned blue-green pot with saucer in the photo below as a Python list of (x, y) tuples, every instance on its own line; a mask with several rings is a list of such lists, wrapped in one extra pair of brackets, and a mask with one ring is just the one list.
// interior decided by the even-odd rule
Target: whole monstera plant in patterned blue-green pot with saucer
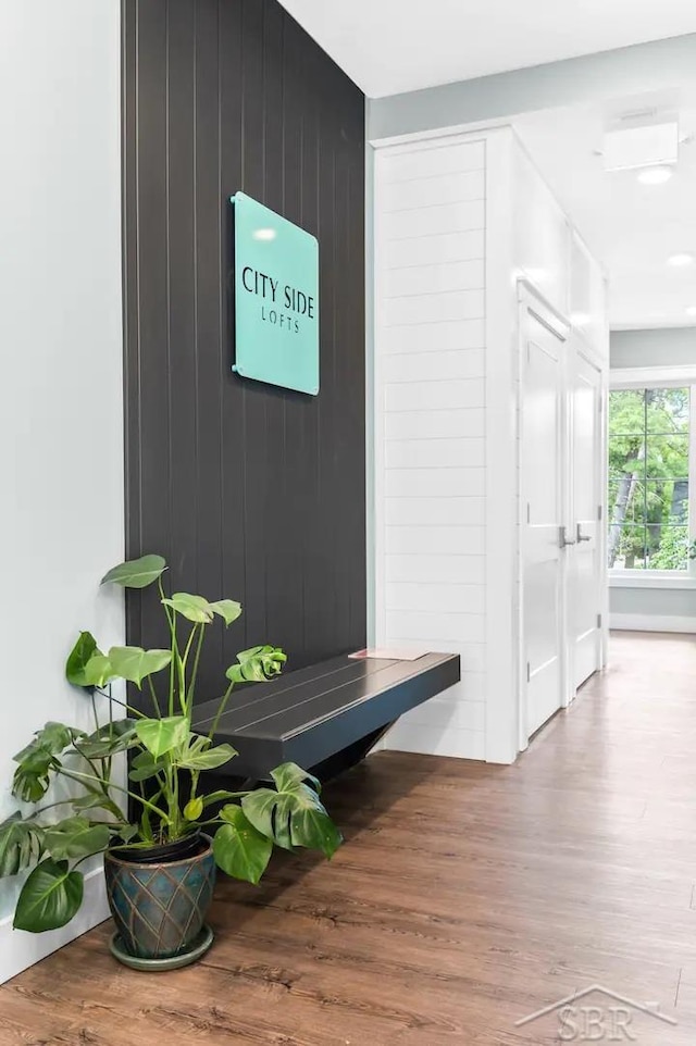
[[(256, 884), (274, 846), (309, 847), (330, 858), (341, 842), (319, 798), (319, 781), (295, 763), (273, 771), (273, 787), (203, 789), (206, 771), (236, 755), (214, 742), (234, 687), (273, 678), (286, 656), (272, 646), (238, 653), (210, 732), (197, 734), (191, 715), (206, 632), (216, 618), (229, 626), (241, 606), (182, 592), (166, 595), (165, 570), (161, 556), (144, 556), (102, 578), (102, 585), (124, 588), (157, 584), (170, 646), (112, 647), (103, 653), (89, 632), (80, 633), (65, 673), (91, 701), (94, 731), (50, 722), (35, 734), (14, 757), (12, 784), (12, 794), (35, 809), (17, 811), (0, 825), (0, 876), (33, 869), (14, 926), (39, 933), (70, 922), (83, 900), (80, 866), (103, 852), (116, 924), (111, 949), (141, 969), (184, 966), (210, 947), (206, 916), (216, 868)], [(115, 681), (145, 686), (152, 712), (146, 714), (140, 701), (135, 707), (125, 688), (116, 697)], [(55, 792), (44, 802), (60, 781), (71, 783), (70, 795)], [(51, 820), (61, 808), (70, 815)]]

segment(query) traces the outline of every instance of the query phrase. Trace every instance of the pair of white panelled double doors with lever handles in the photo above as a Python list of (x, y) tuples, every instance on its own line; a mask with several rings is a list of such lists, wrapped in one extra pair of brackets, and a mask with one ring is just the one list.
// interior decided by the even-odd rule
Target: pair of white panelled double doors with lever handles
[(602, 375), (534, 297), (520, 306), (522, 743), (601, 663)]

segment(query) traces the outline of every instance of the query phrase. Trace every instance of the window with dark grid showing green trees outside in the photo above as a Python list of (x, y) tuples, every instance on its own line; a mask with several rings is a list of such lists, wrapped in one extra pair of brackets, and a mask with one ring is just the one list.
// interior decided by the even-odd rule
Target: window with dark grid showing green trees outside
[(689, 565), (689, 436), (696, 387), (609, 394), (608, 565), (681, 571)]

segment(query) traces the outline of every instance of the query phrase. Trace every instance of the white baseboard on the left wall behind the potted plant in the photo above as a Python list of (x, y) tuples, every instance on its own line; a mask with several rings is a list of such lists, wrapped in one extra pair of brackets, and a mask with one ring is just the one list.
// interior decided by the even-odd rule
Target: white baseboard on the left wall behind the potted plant
[(12, 929), (12, 916), (0, 922), (0, 984), (58, 951), (75, 937), (98, 926), (109, 918), (104, 870), (96, 868), (85, 875), (83, 906), (66, 926), (49, 933), (25, 933)]

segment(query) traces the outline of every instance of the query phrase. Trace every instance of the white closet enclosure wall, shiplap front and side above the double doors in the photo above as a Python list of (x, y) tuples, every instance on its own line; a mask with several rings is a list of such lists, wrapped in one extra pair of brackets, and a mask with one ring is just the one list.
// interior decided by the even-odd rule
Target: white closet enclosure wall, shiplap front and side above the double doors
[(606, 358), (601, 274), (511, 128), (381, 146), (374, 188), (371, 639), (462, 667), (385, 744), (510, 762), (526, 744), (517, 281), (569, 323), (577, 306)]

